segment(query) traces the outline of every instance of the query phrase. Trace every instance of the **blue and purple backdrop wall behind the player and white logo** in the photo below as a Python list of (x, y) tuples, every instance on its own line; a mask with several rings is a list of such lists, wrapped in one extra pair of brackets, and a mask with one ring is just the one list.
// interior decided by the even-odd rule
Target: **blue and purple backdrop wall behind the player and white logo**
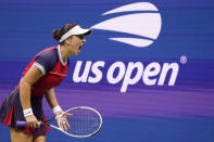
[[(102, 130), (88, 139), (68, 138), (55, 130), (48, 141), (90, 142), (213, 142), (214, 141), (214, 2), (209, 0), (49, 0), (0, 1), (0, 100), (16, 86), (22, 72), (40, 50), (58, 44), (51, 33), (66, 23), (91, 27), (117, 16), (104, 12), (135, 2), (150, 2), (159, 9), (162, 28), (147, 48), (109, 40), (129, 36), (95, 29), (78, 56), (71, 56), (66, 79), (55, 88), (61, 106), (87, 105), (103, 115)], [(139, 29), (140, 30), (140, 29)], [(180, 63), (185, 55), (187, 62)], [(77, 61), (103, 61), (103, 77), (97, 83), (73, 80)], [(146, 86), (142, 81), (121, 93), (122, 81), (108, 82), (109, 67), (121, 61), (144, 66), (158, 62), (177, 63), (175, 86)], [(90, 73), (90, 75), (92, 75)], [(135, 76), (135, 73), (134, 75)], [(43, 109), (51, 112), (46, 101)], [(9, 129), (0, 126), (0, 140), (10, 141)]]

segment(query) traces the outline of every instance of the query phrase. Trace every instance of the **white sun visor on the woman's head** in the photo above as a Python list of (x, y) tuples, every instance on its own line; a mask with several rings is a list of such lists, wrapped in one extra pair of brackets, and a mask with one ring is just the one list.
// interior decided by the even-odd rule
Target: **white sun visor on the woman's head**
[(90, 35), (90, 34), (91, 34), (91, 29), (84, 29), (80, 26), (76, 25), (75, 27), (70, 29), (67, 33), (65, 33), (59, 41), (62, 42), (73, 35)]

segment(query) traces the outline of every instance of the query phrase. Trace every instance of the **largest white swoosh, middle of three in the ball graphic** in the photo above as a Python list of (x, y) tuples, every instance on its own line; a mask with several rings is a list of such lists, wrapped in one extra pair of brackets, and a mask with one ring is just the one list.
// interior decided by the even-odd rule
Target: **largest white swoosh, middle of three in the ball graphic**
[(161, 30), (161, 15), (159, 13), (128, 14), (106, 20), (91, 28), (156, 39)]

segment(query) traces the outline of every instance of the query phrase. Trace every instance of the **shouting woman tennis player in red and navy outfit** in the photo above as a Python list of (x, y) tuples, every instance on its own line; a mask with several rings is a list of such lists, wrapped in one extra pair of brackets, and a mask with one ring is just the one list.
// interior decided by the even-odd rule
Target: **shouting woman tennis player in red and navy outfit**
[[(55, 98), (54, 87), (66, 76), (70, 55), (78, 55), (86, 42), (85, 36), (91, 29), (84, 29), (77, 24), (66, 24), (60, 30), (52, 31), (59, 46), (39, 52), (25, 68), (17, 87), (5, 98), (0, 106), (0, 122), (10, 127), (12, 142), (45, 142), (48, 126), (42, 112), (42, 98), (55, 116), (63, 113)], [(16, 121), (27, 121), (26, 127), (17, 127)], [(66, 119), (58, 121), (63, 129), (70, 125)]]

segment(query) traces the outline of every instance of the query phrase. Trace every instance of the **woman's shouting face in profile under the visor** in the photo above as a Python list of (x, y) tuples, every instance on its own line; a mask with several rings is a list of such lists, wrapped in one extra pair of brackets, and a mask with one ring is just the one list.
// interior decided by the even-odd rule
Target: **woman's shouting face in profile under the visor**
[(81, 47), (86, 42), (84, 35), (75, 35), (68, 38), (68, 48), (72, 55), (78, 55)]

